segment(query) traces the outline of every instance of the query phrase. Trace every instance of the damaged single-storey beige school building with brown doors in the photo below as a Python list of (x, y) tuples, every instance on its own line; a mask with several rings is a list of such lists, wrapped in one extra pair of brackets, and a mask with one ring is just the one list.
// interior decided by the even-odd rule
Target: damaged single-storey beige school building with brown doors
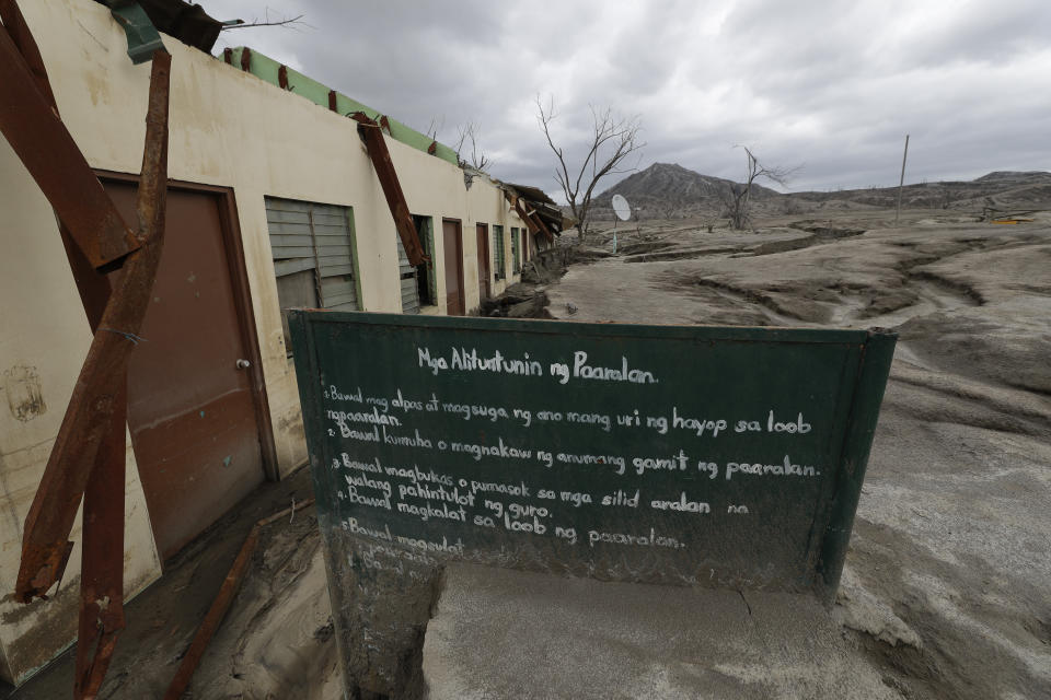
[[(79, 515), (48, 599), (24, 604), (11, 594), (26, 517), (97, 322), (85, 315), (95, 272), (71, 270), (76, 235), (60, 231), (73, 222), (26, 165), (33, 153), (51, 152), (50, 142), (34, 141), (51, 115), (34, 117), (12, 94), (36, 48), (47, 83), (39, 92), (50, 91), (60, 116), (53, 120), (132, 228), (155, 48), (137, 43), (152, 27), (136, 23), (148, 18), (171, 55), (155, 283), (137, 334), (96, 331), (134, 343), (125, 598), (261, 482), (305, 464), (282, 310), (464, 315), (519, 281), (563, 221), (539, 189), (462, 166), (448, 147), (257, 51), (212, 56), (222, 23), (200, 5), (0, 0), (0, 678), (19, 685), (77, 638)], [(11, 59), (14, 50), (24, 62)], [(129, 58), (135, 50), (145, 52), (139, 63)], [(73, 166), (37, 167), (49, 168), (51, 191), (80, 197), (63, 179)]]

